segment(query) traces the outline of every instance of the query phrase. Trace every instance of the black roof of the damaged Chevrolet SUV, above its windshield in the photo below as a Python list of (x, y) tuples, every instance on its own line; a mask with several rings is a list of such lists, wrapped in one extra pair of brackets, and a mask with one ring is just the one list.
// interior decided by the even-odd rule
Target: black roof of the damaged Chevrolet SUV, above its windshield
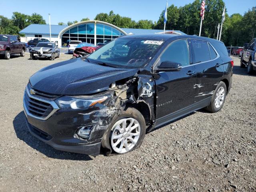
[(207, 38), (207, 37), (200, 37), (196, 35), (180, 35), (180, 34), (140, 34), (140, 35), (125, 35), (121, 36), (120, 38), (144, 38), (144, 39), (150, 39), (150, 40), (163, 40), (167, 41), (170, 39), (181, 39), (181, 38), (191, 38), (191, 39), (200, 39), (200, 40), (206, 40), (206, 41), (217, 41), (221, 42), (216, 39)]

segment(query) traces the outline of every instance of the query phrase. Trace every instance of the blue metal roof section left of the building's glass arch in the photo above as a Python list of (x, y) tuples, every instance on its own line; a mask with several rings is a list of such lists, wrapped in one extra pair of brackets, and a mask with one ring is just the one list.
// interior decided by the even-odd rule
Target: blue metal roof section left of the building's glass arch
[[(51, 32), (53, 35), (58, 35), (67, 25), (51, 25)], [(49, 25), (31, 24), (20, 31), (20, 34), (50, 34)]]

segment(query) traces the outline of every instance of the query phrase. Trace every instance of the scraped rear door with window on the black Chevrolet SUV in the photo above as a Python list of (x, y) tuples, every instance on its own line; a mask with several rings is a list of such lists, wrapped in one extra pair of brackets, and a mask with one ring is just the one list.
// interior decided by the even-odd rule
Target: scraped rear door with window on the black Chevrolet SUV
[(224, 72), (223, 62), (215, 48), (207, 41), (192, 39), (193, 63), (198, 81), (194, 85), (196, 96), (194, 102), (199, 102), (212, 96)]

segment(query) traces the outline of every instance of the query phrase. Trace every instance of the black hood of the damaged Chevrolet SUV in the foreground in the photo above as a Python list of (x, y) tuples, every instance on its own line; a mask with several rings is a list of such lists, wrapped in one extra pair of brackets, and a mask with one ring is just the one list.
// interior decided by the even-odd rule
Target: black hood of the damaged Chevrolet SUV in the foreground
[(117, 80), (135, 75), (138, 69), (120, 69), (83, 61), (67, 60), (47, 66), (30, 77), (36, 90), (58, 95), (86, 95), (108, 90)]

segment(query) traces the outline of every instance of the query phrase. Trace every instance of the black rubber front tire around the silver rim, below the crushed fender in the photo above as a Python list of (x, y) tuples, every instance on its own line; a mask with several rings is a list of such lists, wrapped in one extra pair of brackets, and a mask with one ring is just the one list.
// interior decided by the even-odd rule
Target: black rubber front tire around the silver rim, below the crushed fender
[[(110, 125), (108, 126), (107, 130), (106, 130), (106, 134), (107, 134), (107, 139), (108, 139), (108, 143), (112, 149), (112, 153), (114, 154), (119, 154), (119, 153), (116, 153), (112, 146), (111, 146), (111, 136), (112, 136), (112, 128), (114, 126), (114, 124), (123, 119), (123, 118), (127, 118), (127, 117), (131, 117), (131, 118), (134, 118), (138, 121), (138, 123), (140, 124), (140, 137), (139, 137), (139, 140), (138, 142), (136, 143), (136, 145), (134, 146), (134, 148), (132, 148), (130, 151), (128, 152), (131, 152), (133, 150), (135, 150), (136, 148), (140, 147), (140, 145), (142, 144), (143, 140), (144, 140), (144, 137), (145, 137), (145, 134), (146, 134), (146, 123), (145, 123), (145, 120), (144, 120), (144, 117), (142, 116), (142, 114), (135, 108), (126, 108), (122, 114), (120, 116), (117, 116), (115, 115), (112, 122), (110, 123)], [(126, 152), (126, 153), (128, 153)], [(125, 154), (125, 153), (122, 153), (122, 154)]]

